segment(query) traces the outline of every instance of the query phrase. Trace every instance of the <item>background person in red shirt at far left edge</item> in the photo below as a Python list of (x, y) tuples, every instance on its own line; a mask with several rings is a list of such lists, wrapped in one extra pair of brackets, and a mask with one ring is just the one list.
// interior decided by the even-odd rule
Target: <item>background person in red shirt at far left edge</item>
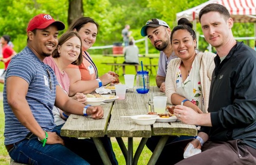
[(2, 59), (0, 61), (4, 62), (4, 72), (2, 73), (0, 77), (0, 83), (4, 84), (4, 75), (7, 69), (7, 66), (9, 62), (11, 61), (11, 58), (15, 56), (17, 53), (8, 45), (11, 38), (9, 35), (3, 35), (0, 39), (2, 44)]

